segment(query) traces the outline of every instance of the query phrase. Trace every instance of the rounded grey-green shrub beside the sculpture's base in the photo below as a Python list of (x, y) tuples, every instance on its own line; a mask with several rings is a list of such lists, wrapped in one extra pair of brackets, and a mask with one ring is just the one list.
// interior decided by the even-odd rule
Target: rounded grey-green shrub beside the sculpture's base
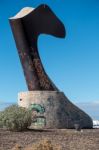
[(11, 131), (26, 130), (31, 124), (31, 111), (17, 105), (9, 106), (0, 113), (0, 124)]

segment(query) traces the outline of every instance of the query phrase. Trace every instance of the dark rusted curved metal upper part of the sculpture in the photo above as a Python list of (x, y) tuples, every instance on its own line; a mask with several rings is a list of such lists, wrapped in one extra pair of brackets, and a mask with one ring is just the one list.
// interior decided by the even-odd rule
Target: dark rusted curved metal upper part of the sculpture
[(62, 22), (47, 5), (40, 5), (25, 16), (10, 18), (10, 24), (28, 90), (58, 91), (44, 70), (37, 40), (42, 33), (64, 38), (66, 32)]

